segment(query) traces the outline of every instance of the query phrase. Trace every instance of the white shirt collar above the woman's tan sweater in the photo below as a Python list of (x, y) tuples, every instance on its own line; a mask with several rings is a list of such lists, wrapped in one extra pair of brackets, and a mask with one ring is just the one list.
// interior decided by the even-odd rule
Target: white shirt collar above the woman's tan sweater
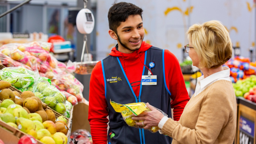
[(207, 86), (211, 82), (223, 78), (223, 77), (229, 77), (230, 76), (230, 68), (229, 67), (223, 67), (224, 70), (219, 71), (217, 73), (214, 73), (206, 78), (204, 76), (198, 77), (197, 81), (200, 82), (201, 88)]

